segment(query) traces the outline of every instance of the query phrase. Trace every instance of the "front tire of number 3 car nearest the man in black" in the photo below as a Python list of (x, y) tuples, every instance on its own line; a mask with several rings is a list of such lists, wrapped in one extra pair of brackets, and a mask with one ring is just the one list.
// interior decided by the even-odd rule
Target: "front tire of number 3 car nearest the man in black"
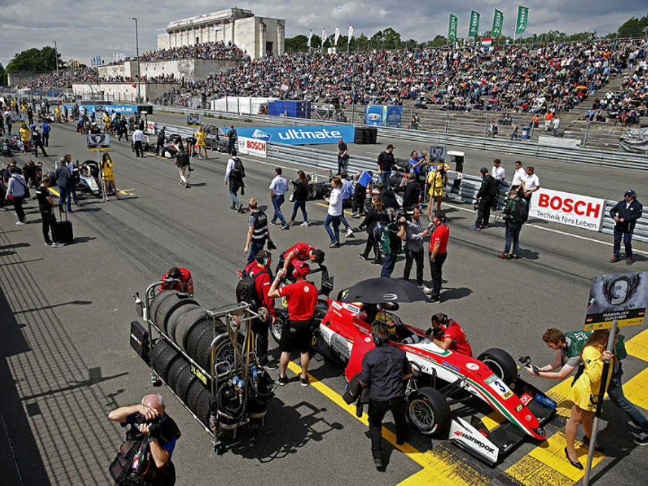
[(450, 407), (438, 390), (424, 386), (408, 397), (407, 418), (421, 434), (442, 429), (450, 418)]

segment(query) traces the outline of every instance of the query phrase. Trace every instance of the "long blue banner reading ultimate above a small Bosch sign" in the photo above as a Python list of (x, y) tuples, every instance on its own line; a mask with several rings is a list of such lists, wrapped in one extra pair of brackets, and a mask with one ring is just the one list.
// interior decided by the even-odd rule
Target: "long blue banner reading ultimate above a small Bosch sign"
[(353, 143), (353, 125), (293, 125), (291, 127), (236, 127), (239, 137), (286, 145), (338, 143), (338, 139)]

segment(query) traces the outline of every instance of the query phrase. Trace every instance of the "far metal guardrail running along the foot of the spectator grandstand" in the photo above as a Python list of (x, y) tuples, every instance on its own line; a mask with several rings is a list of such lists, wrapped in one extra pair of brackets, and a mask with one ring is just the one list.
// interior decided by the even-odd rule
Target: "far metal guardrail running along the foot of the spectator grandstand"
[[(186, 114), (199, 114), (221, 116), (236, 120), (249, 120), (259, 123), (272, 123), (274, 125), (348, 125), (333, 120), (314, 120), (312, 118), (291, 118), (288, 116), (268, 116), (238, 114), (229, 111), (213, 111), (200, 108), (185, 108), (175, 106), (154, 105), (158, 111), (175, 111)], [(364, 125), (355, 125), (363, 127)], [(627, 154), (624, 152), (605, 152), (604, 150), (591, 150), (587, 148), (563, 148), (543, 146), (525, 141), (506, 141), (501, 139), (487, 139), (479, 136), (454, 135), (442, 132), (429, 132), (426, 130), (409, 130), (405, 128), (378, 127), (378, 136), (390, 139), (401, 139), (415, 142), (426, 142), (431, 145), (454, 145), (461, 148), (474, 148), (491, 150), (500, 153), (519, 155), (522, 157), (541, 157), (546, 159), (561, 160), (580, 164), (595, 164), (616, 168), (634, 168), (648, 171), (648, 156)]]

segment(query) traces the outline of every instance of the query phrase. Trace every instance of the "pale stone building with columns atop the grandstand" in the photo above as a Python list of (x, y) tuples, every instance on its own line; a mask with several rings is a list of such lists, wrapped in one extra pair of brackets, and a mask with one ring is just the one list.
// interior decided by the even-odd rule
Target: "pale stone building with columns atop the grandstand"
[(228, 8), (169, 22), (157, 36), (157, 48), (181, 47), (222, 40), (247, 51), (253, 58), (281, 56), (285, 47), (285, 19), (256, 17), (251, 10)]

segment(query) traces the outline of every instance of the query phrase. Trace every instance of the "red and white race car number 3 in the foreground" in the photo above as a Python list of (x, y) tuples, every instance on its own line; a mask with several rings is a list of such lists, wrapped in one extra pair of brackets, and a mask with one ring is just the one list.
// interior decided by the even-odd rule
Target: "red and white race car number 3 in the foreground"
[[(338, 297), (341, 298), (341, 297)], [(395, 302), (382, 304), (345, 303), (320, 299), (316, 308), (313, 349), (346, 366), (350, 380), (362, 370), (362, 357), (373, 349), (372, 316), (384, 312), (393, 324), (392, 346), (407, 353), (412, 379), (407, 384), (408, 419), (422, 434), (447, 430), (450, 405), (475, 396), (506, 419), (490, 432), (473, 417), (468, 423), (454, 417), (449, 439), (490, 464), (496, 464), (525, 437), (543, 440), (543, 425), (555, 411), (555, 402), (517, 376), (514, 359), (504, 350), (492, 348), (477, 359), (451, 350), (442, 350), (426, 338), (424, 331), (404, 324), (393, 312)], [(275, 340), (281, 337), (286, 316), (279, 312), (272, 326)]]

